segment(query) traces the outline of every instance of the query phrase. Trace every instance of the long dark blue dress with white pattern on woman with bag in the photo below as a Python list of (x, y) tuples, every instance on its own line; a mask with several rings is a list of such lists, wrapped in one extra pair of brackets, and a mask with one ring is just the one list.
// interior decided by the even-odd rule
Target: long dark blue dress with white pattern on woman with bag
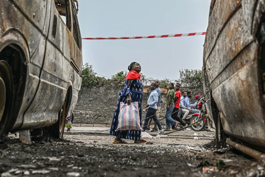
[(120, 97), (118, 99), (114, 115), (112, 118), (111, 123), (111, 131), (109, 132), (110, 135), (117, 136), (119, 139), (130, 139), (139, 141), (141, 137), (141, 131), (139, 130), (118, 130), (115, 131), (118, 128), (118, 115), (120, 112), (120, 102), (127, 103), (127, 94), (130, 93), (131, 95), (131, 102), (138, 102), (138, 108), (139, 108), (139, 115), (140, 115), (140, 126), (142, 126), (142, 101), (143, 101), (143, 84), (140, 80), (134, 80), (130, 79), (131, 83), (129, 86), (127, 86), (127, 81), (125, 83), (125, 88), (120, 92)]

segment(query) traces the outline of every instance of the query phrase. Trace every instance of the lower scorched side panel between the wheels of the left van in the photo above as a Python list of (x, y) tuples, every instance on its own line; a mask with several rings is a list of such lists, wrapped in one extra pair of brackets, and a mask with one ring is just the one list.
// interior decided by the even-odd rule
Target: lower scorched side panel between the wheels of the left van
[[(47, 41), (41, 82), (34, 101), (24, 115), (22, 129), (47, 126), (58, 120), (58, 112), (67, 93), (70, 71), (72, 68), (69, 61)], [(44, 104), (40, 104), (42, 102)]]

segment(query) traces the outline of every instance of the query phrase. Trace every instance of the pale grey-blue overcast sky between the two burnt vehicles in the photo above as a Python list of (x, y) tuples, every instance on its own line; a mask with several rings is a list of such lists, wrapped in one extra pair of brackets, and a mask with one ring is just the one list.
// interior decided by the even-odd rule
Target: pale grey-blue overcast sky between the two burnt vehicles
[[(79, 0), (84, 37), (131, 37), (205, 32), (211, 0)], [(178, 79), (180, 69), (201, 69), (203, 36), (82, 40), (83, 64), (111, 76), (131, 62), (154, 79)]]

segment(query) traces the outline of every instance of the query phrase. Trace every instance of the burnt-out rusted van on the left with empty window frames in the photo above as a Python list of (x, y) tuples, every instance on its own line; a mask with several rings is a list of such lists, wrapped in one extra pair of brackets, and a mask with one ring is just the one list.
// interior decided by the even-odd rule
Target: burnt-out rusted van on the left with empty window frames
[(0, 136), (46, 126), (63, 136), (81, 87), (76, 3), (0, 1)]

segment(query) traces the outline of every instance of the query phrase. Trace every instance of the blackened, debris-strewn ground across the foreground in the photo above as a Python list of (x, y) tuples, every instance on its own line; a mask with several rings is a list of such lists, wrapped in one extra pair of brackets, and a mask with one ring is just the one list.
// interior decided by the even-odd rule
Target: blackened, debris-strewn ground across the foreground
[[(36, 140), (32, 144), (20, 143), (13, 137), (0, 141), (0, 173), (14, 176), (66, 176), (68, 172), (78, 172), (80, 176), (264, 176), (264, 162), (227, 147), (220, 149), (224, 153), (219, 154), (209, 149), (185, 150), (185, 145)], [(226, 159), (231, 166), (217, 169), (216, 159)]]

